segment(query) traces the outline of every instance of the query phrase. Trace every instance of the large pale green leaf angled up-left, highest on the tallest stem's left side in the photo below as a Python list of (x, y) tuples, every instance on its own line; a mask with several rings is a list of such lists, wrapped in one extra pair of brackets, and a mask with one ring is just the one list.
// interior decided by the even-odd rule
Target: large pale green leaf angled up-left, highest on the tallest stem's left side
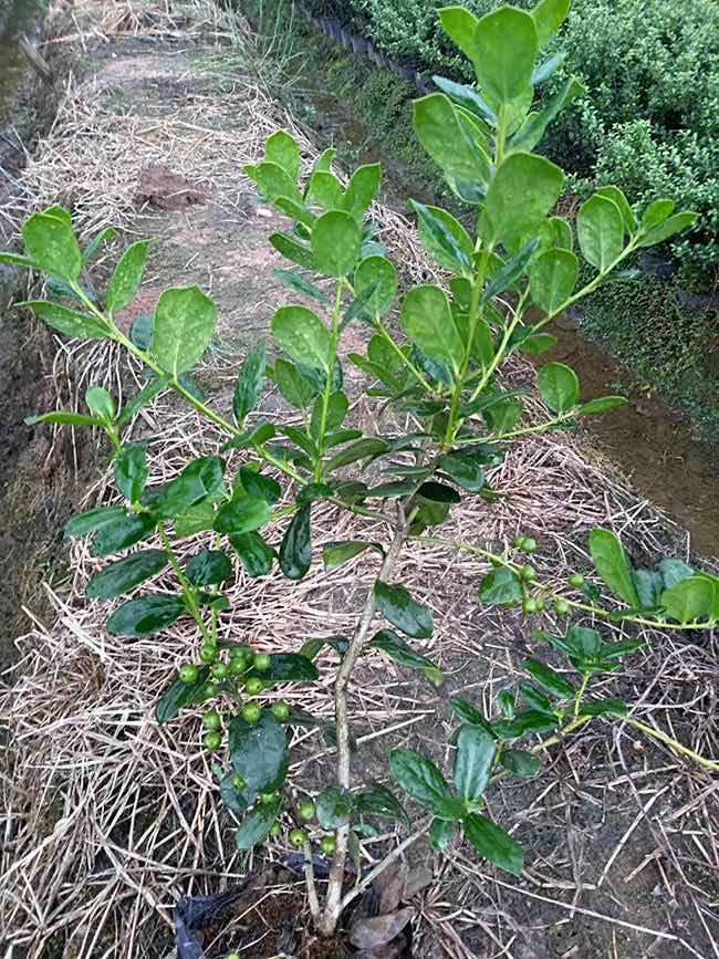
[(489, 157), (459, 121), (456, 107), (442, 93), (414, 102), (414, 127), (429, 156), (449, 176), (480, 188), (489, 181)]

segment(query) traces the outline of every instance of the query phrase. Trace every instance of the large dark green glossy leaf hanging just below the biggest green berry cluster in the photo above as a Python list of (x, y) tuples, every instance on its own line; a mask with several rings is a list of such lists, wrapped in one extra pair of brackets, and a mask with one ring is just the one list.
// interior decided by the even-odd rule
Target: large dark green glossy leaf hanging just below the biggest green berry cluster
[(236, 716), (230, 722), (230, 762), (247, 783), (250, 794), (277, 792), (289, 767), (284, 727), (269, 709), (259, 722), (246, 722)]

